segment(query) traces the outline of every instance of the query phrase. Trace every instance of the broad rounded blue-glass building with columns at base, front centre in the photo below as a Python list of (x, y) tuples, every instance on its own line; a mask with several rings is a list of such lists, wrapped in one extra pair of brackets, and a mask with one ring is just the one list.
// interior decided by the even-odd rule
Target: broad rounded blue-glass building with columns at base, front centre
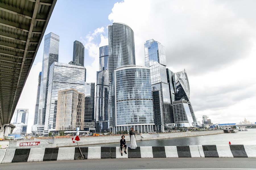
[(150, 69), (126, 65), (112, 74), (113, 130), (136, 133), (151, 132), (154, 129), (153, 100)]

